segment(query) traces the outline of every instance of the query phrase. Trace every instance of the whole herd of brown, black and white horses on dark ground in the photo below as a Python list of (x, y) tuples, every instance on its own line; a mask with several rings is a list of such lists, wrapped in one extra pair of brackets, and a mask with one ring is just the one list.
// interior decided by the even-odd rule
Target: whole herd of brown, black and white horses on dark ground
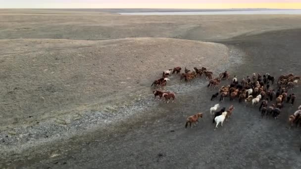
[[(174, 102), (175, 93), (162, 90), (167, 82), (170, 81), (168, 77), (173, 74), (180, 75), (180, 81), (184, 80), (185, 82), (191, 82), (198, 76), (203, 76), (208, 80), (209, 83), (207, 87), (210, 87), (211, 90), (216, 88), (221, 83), (221, 80), (230, 80), (230, 74), (227, 71), (220, 73), (218, 78), (213, 78), (213, 73), (207, 71), (204, 67), (201, 69), (194, 67), (193, 71), (188, 70), (185, 67), (184, 73), (182, 74), (181, 70), (181, 67), (166, 70), (162, 73), (162, 78), (155, 80), (151, 84), (151, 86), (154, 86), (154, 98), (159, 96), (160, 100), (164, 98), (166, 103), (169, 103), (171, 99), (172, 102)], [(285, 103), (291, 104), (292, 106), (294, 105), (296, 94), (289, 92), (298, 84), (299, 80), (300, 76), (294, 76), (293, 74), (281, 75), (276, 82), (275, 88), (273, 88), (276, 79), (269, 73), (266, 73), (263, 76), (259, 73), (253, 73), (251, 77), (247, 76), (246, 78), (242, 78), (241, 81), (234, 76), (231, 83), (229, 85), (221, 86), (218, 92), (212, 94), (210, 100), (214, 101), (219, 96), (219, 101), (223, 102), (225, 98), (229, 97), (230, 101), (237, 99), (239, 103), (244, 102), (245, 107), (254, 107), (260, 103), (259, 112), (261, 112), (261, 118), (264, 116), (266, 116), (266, 118), (272, 116), (276, 120), (280, 116), (282, 108), (285, 107)], [(160, 89), (158, 90), (156, 87), (160, 87)], [(235, 109), (233, 105), (231, 105), (227, 111), (225, 107), (217, 111), (219, 108), (219, 103), (210, 108), (210, 114), (211, 116), (214, 116), (212, 122), (216, 124), (215, 129), (219, 124), (222, 126), (224, 120), (227, 121), (227, 118), (230, 118)], [(187, 128), (188, 125), (192, 127), (192, 124), (196, 126), (199, 122), (199, 118), (202, 117), (202, 113), (197, 113), (188, 117), (185, 128)], [(290, 128), (294, 124), (296, 124), (296, 127), (300, 124), (301, 127), (301, 106), (299, 106), (298, 110), (289, 117), (289, 124)]]

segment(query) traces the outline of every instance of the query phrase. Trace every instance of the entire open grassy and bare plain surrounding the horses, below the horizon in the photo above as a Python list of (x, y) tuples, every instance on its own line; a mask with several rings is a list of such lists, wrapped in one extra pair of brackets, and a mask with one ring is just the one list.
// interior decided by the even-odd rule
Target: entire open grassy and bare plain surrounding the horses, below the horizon
[[(167, 90), (176, 101), (168, 105), (150, 88), (175, 66), (239, 79), (300, 75), (300, 15), (3, 10), (0, 168), (301, 167), (300, 128), (287, 128), (300, 88), (296, 106), (286, 105), (276, 121), (227, 99), (222, 106), (234, 104), (233, 117), (215, 132), (208, 113), (215, 91), (203, 78), (185, 84), (172, 76)], [(184, 130), (186, 117), (200, 111), (199, 126)]]

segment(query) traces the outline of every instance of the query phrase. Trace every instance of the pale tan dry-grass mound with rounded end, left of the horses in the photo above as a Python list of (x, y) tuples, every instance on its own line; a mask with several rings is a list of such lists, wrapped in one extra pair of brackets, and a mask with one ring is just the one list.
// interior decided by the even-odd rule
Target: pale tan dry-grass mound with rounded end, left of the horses
[(169, 68), (213, 68), (228, 56), (222, 44), (165, 38), (1, 40), (0, 47), (4, 126), (83, 112), (106, 96), (149, 88)]

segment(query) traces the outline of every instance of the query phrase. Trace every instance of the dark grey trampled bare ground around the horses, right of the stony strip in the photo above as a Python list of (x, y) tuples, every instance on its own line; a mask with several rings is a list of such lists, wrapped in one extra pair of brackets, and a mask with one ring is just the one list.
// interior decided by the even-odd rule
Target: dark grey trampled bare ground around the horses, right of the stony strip
[[(253, 72), (300, 75), (300, 37), (301, 30), (284, 30), (224, 41), (234, 62), (218, 72), (227, 68), (239, 79)], [(187, 84), (192, 90), (186, 91), (187, 86), (171, 85), (179, 93), (175, 104), (155, 103), (156, 109), (150, 107), (135, 118), (87, 136), (82, 145), (69, 143), (65, 147), (69, 151), (59, 151), (57, 157), (17, 164), (24, 169), (301, 167), (300, 128), (288, 130), (286, 123), (288, 115), (301, 104), (299, 99), (293, 108), (286, 105), (276, 121), (260, 119), (258, 107), (245, 108), (237, 100), (230, 103), (226, 99), (221, 106), (233, 104), (234, 114), (223, 127), (213, 131), (208, 110), (215, 104), (209, 101), (215, 91), (205, 84), (204, 80), (196, 80), (191, 86)], [(300, 88), (293, 91), (299, 98)], [(200, 111), (205, 116), (199, 126), (185, 130), (186, 117)]]

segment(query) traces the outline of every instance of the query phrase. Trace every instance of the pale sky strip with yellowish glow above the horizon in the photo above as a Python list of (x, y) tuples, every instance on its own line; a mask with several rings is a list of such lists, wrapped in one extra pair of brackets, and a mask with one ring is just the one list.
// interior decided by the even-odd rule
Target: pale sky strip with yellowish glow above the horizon
[(301, 0), (0, 0), (0, 8), (301, 9)]

